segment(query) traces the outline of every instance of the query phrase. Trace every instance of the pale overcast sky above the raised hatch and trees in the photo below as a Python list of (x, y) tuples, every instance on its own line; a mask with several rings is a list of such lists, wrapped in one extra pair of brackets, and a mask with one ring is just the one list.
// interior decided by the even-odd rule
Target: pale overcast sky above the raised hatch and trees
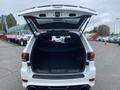
[(98, 15), (92, 17), (87, 30), (106, 24), (110, 26), (111, 32), (120, 32), (120, 20), (117, 19), (120, 18), (120, 0), (0, 0), (0, 15), (12, 13), (17, 22), (23, 24), (24, 19), (17, 16), (19, 11), (48, 4), (80, 5), (94, 9)]

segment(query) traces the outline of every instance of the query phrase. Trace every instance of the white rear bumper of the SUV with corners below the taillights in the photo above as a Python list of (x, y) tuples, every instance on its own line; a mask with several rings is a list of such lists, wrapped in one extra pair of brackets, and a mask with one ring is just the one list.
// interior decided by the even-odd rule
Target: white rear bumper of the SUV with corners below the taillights
[[(24, 65), (24, 63), (22, 65)], [(82, 85), (88, 85), (90, 87), (93, 87), (95, 85), (95, 80), (89, 81), (89, 79), (96, 78), (96, 68), (94, 66), (94, 62), (90, 63), (90, 66), (91, 68), (89, 68), (89, 66), (86, 66), (86, 69), (83, 73), (84, 77), (81, 78), (37, 79), (37, 78), (33, 78), (34, 73), (31, 71), (31, 69), (28, 69), (26, 65), (26, 68), (21, 69), (21, 79), (28, 80), (28, 82), (22, 82), (22, 84), (24, 88), (27, 88), (29, 86), (63, 87), (63, 86), (82, 86)]]

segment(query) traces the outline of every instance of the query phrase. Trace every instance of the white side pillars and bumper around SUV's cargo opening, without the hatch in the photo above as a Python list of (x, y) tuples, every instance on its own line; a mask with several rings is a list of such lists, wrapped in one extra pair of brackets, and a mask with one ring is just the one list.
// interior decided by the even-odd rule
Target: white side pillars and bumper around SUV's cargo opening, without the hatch
[[(92, 52), (92, 48), (85, 39), (84, 35), (82, 35), (81, 40), (84, 44), (84, 47), (87, 52)], [(30, 53), (32, 50), (32, 46), (35, 42), (34, 36), (30, 39), (28, 45), (24, 49), (23, 52)], [(88, 61), (88, 60), (87, 60)], [(29, 61), (28, 61), (29, 62)], [(21, 67), (21, 79), (28, 80), (28, 83), (22, 83), (24, 88), (27, 88), (30, 85), (35, 86), (74, 86), (74, 85), (89, 85), (93, 87), (95, 85), (95, 81), (90, 82), (89, 79), (96, 77), (96, 68), (95, 68), (95, 61), (89, 61), (89, 66), (85, 67), (85, 71), (83, 74), (85, 75), (84, 78), (76, 78), (76, 79), (33, 79), (33, 72), (31, 67), (27, 66), (28, 62), (22, 62)]]

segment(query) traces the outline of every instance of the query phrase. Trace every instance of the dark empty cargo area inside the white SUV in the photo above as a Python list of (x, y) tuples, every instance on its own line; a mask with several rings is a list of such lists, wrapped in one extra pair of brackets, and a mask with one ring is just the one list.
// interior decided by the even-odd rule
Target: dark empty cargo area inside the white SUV
[(86, 52), (77, 34), (47, 32), (37, 37), (30, 60), (35, 73), (79, 73), (84, 71)]

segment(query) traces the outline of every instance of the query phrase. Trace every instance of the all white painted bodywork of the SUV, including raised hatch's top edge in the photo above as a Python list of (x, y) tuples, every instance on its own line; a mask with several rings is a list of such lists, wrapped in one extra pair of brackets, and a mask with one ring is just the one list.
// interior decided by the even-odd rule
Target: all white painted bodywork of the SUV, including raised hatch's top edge
[[(38, 15), (39, 12), (49, 12), (49, 11), (54, 11), (54, 10), (66, 10), (66, 11), (76, 11), (76, 12), (82, 12), (87, 15), (94, 15), (95, 12), (90, 11), (89, 9), (84, 9), (84, 8), (79, 8), (79, 7), (43, 7), (43, 8), (33, 8), (29, 9), (26, 11), (23, 11), (19, 13), (21, 16), (29, 16), (29, 15)], [(80, 35), (80, 32), (75, 32)], [(40, 33), (39, 33), (40, 34)], [(30, 41), (28, 42), (27, 46), (23, 50), (25, 53), (29, 53), (29, 56), (31, 56), (31, 50), (35, 42), (35, 37), (32, 36)], [(91, 48), (90, 44), (86, 40), (85, 36), (81, 36), (81, 41), (83, 43), (83, 46), (87, 52), (93, 52), (93, 49)], [(84, 78), (75, 78), (75, 79), (34, 79), (32, 78), (33, 72), (31, 69), (31, 66), (28, 66), (27, 63), (30, 62), (22, 62), (22, 67), (21, 67), (21, 79), (28, 80), (27, 83), (22, 83), (23, 87), (27, 88), (30, 85), (35, 85), (35, 86), (74, 86), (74, 85), (89, 85), (90, 87), (93, 87), (95, 85), (95, 81), (90, 82), (89, 79), (96, 78), (96, 67), (95, 67), (95, 61), (88, 61), (89, 65), (85, 66), (84, 72), (82, 72), (85, 77)]]

